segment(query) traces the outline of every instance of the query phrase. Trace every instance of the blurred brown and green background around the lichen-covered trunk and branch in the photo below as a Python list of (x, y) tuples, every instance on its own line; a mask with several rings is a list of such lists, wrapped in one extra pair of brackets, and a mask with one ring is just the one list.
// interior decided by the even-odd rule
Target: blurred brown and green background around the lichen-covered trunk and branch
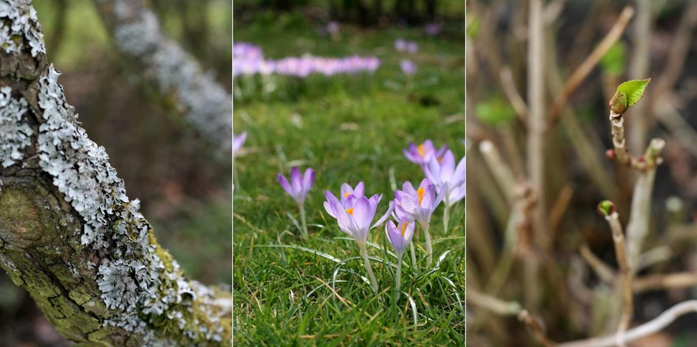
[[(228, 91), (231, 1), (151, 0), (163, 31)], [(231, 278), (231, 162), (137, 83), (88, 0), (35, 0), (49, 61), (66, 98), (104, 146), (130, 199), (187, 275), (205, 284)], [(222, 159), (220, 157), (223, 157)], [(0, 346), (69, 346), (29, 295), (0, 273)]]

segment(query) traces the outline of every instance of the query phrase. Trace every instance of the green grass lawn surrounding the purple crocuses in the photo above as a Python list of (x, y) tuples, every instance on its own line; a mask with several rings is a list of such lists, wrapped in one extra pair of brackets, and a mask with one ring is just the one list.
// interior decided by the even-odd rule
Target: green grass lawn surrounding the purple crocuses
[[(300, 86), (293, 98), (251, 98), (234, 105), (235, 132), (247, 131), (235, 162), (233, 210), (234, 343), (239, 346), (462, 346), (465, 341), (464, 203), (454, 206), (443, 231), (443, 206), (431, 220), (434, 262), (425, 268), (418, 231), (418, 268), (404, 255), (402, 291), (395, 301), (395, 258), (384, 226), (369, 233), (368, 253), (380, 291), (372, 293), (355, 241), (324, 208), (324, 191), (363, 181), (366, 194), (384, 194), (423, 173), (401, 153), (410, 141), (447, 144), (464, 153), (464, 45), (425, 38), (417, 31), (344, 28), (342, 39), (313, 29), (235, 28), (236, 41), (261, 45), (266, 56), (376, 54), (374, 78), (318, 77), (279, 84)], [(397, 37), (418, 40), (412, 90), (404, 88)], [(293, 91), (287, 91), (292, 95)], [(423, 106), (430, 96), (438, 104)], [(296, 203), (276, 180), (290, 168), (312, 167), (316, 179), (305, 201), (310, 236), (297, 238)], [(393, 185), (394, 183), (394, 185)], [(376, 217), (377, 218), (377, 217)], [(335, 295), (336, 293), (336, 295)], [(340, 297), (340, 298), (339, 298)], [(415, 322), (416, 320), (416, 322)]]

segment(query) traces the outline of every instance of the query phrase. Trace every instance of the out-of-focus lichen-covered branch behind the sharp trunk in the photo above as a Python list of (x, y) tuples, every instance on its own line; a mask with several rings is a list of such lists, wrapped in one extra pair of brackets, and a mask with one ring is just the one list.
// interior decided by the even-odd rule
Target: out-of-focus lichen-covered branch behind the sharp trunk
[(123, 1), (114, 3), (114, 42), (122, 52), (144, 63), (160, 91), (174, 93), (187, 121), (224, 151), (232, 146), (232, 99), (213, 75), (204, 73), (181, 47), (162, 34), (150, 10), (137, 13)]

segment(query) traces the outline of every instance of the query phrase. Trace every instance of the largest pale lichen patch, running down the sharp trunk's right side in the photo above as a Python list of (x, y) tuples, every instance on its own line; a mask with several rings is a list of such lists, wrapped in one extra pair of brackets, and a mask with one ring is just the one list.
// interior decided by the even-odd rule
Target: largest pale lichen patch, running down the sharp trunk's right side
[(151, 226), (139, 213), (139, 201), (128, 199), (105, 149), (75, 122), (57, 82), (59, 75), (51, 65), (40, 78), (40, 166), (82, 217), (82, 245), (108, 254), (100, 261), (97, 283), (104, 303), (118, 314), (105, 324), (142, 334), (144, 343), (155, 344), (158, 338), (144, 316), (166, 316), (191, 339), (220, 341), (222, 327), (215, 313), (204, 312), (206, 324), (186, 319), (194, 314), (193, 300), (204, 303), (199, 309), (205, 308), (213, 294), (183, 278), (175, 261), (171, 261), (173, 270), (168, 270), (156, 254), (148, 238)]

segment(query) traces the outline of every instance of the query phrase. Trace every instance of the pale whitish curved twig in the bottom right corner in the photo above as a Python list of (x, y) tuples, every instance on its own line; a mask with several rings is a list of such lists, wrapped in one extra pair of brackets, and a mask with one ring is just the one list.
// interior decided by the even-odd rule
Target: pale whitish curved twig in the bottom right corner
[[(627, 343), (641, 337), (648, 336), (649, 334), (659, 332), (664, 327), (673, 323), (673, 321), (675, 321), (675, 319), (678, 317), (692, 312), (697, 312), (697, 300), (680, 302), (680, 304), (676, 304), (670, 309), (667, 309), (664, 311), (664, 313), (654, 318), (652, 321), (648, 321), (642, 325), (639, 325), (638, 327), (627, 330), (620, 342)], [(604, 337), (594, 337), (592, 339), (565, 342), (563, 344), (558, 344), (557, 347), (612, 347), (617, 343), (618, 334), (612, 334)]]

